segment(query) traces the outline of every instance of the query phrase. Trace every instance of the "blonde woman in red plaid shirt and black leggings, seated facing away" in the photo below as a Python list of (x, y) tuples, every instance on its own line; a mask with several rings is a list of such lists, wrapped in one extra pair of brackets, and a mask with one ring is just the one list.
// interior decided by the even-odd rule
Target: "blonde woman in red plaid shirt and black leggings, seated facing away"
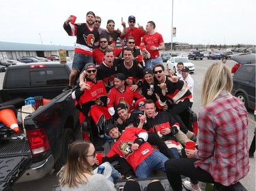
[(185, 150), (188, 158), (165, 162), (174, 191), (182, 190), (180, 175), (188, 190), (201, 190), (198, 181), (231, 186), (245, 177), (248, 161), (248, 113), (244, 103), (233, 97), (231, 73), (226, 65), (214, 63), (205, 73), (202, 85), (203, 108), (199, 111), (198, 150)]

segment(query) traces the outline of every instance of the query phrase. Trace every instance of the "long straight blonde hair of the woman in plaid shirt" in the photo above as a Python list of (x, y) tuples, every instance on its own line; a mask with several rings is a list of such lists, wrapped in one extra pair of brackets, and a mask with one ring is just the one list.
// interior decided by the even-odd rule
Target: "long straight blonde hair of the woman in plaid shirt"
[(202, 105), (212, 103), (216, 97), (223, 91), (231, 92), (233, 80), (231, 72), (226, 65), (222, 63), (213, 63), (208, 67), (202, 85)]

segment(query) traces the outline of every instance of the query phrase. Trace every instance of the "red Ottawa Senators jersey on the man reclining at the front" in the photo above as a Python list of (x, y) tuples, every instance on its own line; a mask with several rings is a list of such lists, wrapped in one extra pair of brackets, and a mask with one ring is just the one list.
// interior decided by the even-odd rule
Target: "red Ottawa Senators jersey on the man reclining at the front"
[(122, 133), (121, 137), (113, 144), (106, 156), (111, 157), (118, 154), (127, 160), (135, 172), (137, 166), (153, 152), (152, 145), (147, 142), (142, 143), (138, 150), (132, 152), (131, 145), (134, 143), (135, 139), (139, 137), (139, 133), (147, 132), (141, 128), (127, 128), (126, 131)]

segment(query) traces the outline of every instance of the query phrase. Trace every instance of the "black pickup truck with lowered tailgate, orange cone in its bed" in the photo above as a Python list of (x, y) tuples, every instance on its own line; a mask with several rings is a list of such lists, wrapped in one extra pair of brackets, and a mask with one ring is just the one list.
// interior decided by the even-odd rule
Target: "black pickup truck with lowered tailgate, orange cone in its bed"
[[(0, 110), (13, 107), (16, 116), (28, 97), (48, 103), (18, 121), (20, 133), (0, 127), (0, 190), (15, 182), (40, 179), (66, 162), (68, 144), (79, 128), (79, 112), (70, 92), (62, 92), (70, 67), (59, 63), (29, 63), (8, 67), (0, 90)], [(42, 100), (40, 101), (42, 103)], [(24, 127), (23, 127), (24, 126)], [(79, 130), (77, 130), (79, 131)]]

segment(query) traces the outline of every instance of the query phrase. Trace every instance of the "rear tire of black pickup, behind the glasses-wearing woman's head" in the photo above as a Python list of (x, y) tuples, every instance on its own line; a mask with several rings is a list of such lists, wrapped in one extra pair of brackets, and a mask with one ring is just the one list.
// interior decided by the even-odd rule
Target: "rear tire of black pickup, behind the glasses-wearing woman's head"
[(68, 156), (68, 145), (74, 141), (74, 132), (71, 128), (64, 129), (61, 141), (61, 156), (54, 164), (54, 169), (59, 171), (64, 164), (66, 164)]

